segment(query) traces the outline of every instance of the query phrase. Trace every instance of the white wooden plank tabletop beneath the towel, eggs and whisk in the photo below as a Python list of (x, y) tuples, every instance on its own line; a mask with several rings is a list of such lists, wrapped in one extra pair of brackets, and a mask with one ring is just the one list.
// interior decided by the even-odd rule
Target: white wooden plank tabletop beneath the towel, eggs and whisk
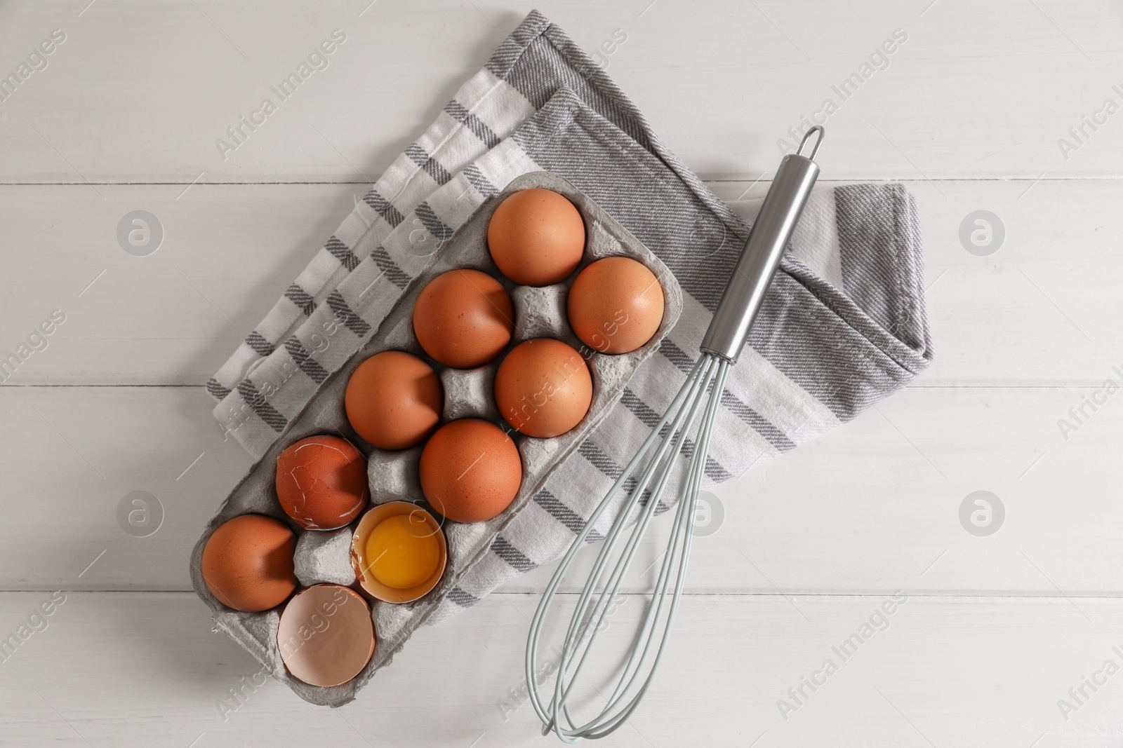
[[(0, 636), (65, 591), (0, 662), (0, 745), (548, 745), (519, 689), (549, 570), (423, 629), (341, 710), (246, 685), (255, 662), (188, 581), (249, 465), (203, 384), (531, 7), (367, 2), (0, 8), (2, 75), (65, 35), (0, 102), (0, 352), (65, 314), (0, 388)], [(824, 181), (916, 195), (937, 351), (876, 409), (716, 491), (669, 659), (606, 742), (1120, 745), (1123, 675), (1103, 668), (1123, 666), (1123, 395), (1099, 391), (1123, 384), (1123, 112), (1102, 110), (1123, 104), (1120, 4), (539, 7), (591, 52), (623, 30), (610, 74), (728, 200), (761, 196), (777, 138), (907, 35), (830, 116), (820, 160)], [(335, 28), (330, 67), (223, 160), (214, 140)], [(1077, 141), (1085, 116), (1102, 123)], [(116, 238), (138, 209), (166, 232), (143, 258)], [(960, 242), (977, 210), (1004, 225), (996, 253)], [(1086, 397), (1102, 404), (1062, 433)], [(150, 537), (118, 526), (135, 490), (163, 505)], [(994, 535), (960, 525), (976, 490), (1005, 507)], [(841, 662), (895, 590), (907, 602)]]

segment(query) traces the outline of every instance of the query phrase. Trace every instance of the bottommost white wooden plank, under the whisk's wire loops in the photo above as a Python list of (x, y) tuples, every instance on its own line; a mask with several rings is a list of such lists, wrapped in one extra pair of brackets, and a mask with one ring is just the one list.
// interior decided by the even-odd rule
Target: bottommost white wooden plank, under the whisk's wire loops
[[(688, 595), (655, 684), (612, 745), (1104, 746), (1123, 729), (1117, 674), (1097, 692), (1085, 686), (1088, 698), (1067, 721), (1057, 705), (1106, 659), (1123, 661), (1113, 648), (1123, 625), (1117, 601), (910, 595), (843, 662), (832, 647), (891, 592)], [(0, 631), (17, 630), (47, 597), (0, 594)], [(307, 746), (330, 736), (345, 747), (544, 745), (519, 694), (535, 606), (532, 595), (494, 595), (421, 629), (356, 702), (329, 710), (272, 680), (246, 685), (257, 664), (211, 634), (192, 594), (71, 592), (47, 628), (0, 664), (0, 740), (218, 747), (267, 737), (270, 745)], [(626, 646), (640, 610), (629, 598), (610, 619), (597, 664)], [(785, 721), (777, 703), (793, 703), (788, 689), (825, 659), (837, 672), (813, 693), (804, 686), (806, 698)], [(243, 696), (231, 702), (236, 710), (222, 710), (230, 689)]]

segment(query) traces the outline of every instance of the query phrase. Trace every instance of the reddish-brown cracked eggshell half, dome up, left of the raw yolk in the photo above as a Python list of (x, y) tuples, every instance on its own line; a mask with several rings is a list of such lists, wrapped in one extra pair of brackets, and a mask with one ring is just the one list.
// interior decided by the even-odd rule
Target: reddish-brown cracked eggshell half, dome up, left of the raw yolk
[(366, 458), (346, 438), (302, 438), (277, 456), (276, 489), (301, 527), (338, 529), (366, 505)]

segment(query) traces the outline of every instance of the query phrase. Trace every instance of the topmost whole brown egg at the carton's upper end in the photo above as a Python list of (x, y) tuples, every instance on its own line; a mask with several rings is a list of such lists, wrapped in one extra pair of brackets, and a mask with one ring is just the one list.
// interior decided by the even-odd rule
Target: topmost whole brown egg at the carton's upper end
[(511, 280), (548, 286), (577, 269), (585, 251), (585, 223), (573, 203), (558, 193), (520, 190), (492, 213), (487, 248)]

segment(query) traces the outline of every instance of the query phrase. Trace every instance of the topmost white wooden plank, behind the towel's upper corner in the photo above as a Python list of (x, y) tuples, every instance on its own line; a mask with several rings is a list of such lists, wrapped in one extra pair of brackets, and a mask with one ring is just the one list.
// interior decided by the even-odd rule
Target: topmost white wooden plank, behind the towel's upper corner
[[(2, 182), (369, 181), (529, 9), (86, 4), (6, 12), (4, 74), (52, 29), (66, 40), (2, 103)], [(1112, 67), (1120, 11), (1108, 0), (1078, 10), (1057, 0), (539, 7), (590, 52), (621, 29), (626, 41), (603, 56), (609, 74), (707, 178), (772, 173), (777, 140), (827, 99), (838, 109), (822, 163), (838, 178), (1123, 176), (1117, 117), (1094, 132), (1084, 126), (1067, 159), (1058, 146), (1105, 99), (1123, 101), (1112, 89), (1123, 84)], [(337, 28), (347, 40), (328, 67), (223, 160), (216, 140)], [(882, 70), (862, 71), (897, 29), (907, 40), (884, 63), (875, 57)], [(836, 87), (852, 74), (868, 77), (843, 99)]]

